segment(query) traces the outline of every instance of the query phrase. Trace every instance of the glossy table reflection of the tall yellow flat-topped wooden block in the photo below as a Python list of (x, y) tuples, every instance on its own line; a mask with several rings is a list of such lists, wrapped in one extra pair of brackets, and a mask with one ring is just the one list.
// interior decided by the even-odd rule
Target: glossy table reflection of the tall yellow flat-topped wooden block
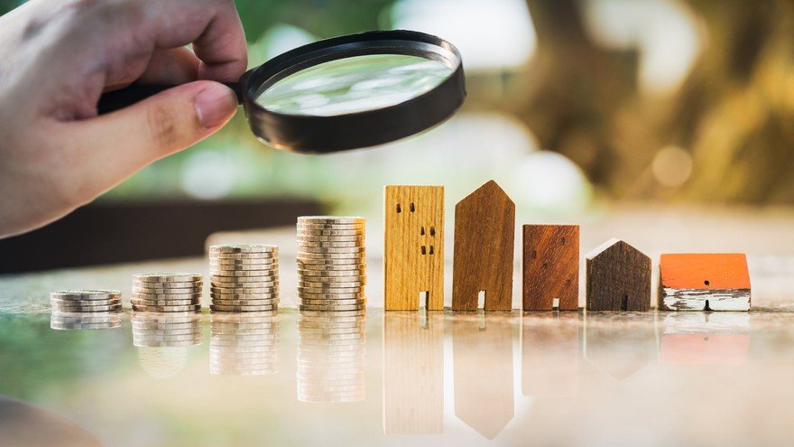
[(444, 313), (384, 313), (383, 432), (444, 432)]

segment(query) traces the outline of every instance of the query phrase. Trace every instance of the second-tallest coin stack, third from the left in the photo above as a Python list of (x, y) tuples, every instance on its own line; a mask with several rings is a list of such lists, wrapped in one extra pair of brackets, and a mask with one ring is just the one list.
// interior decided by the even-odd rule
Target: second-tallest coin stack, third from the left
[(213, 312), (268, 312), (279, 307), (279, 247), (209, 247)]

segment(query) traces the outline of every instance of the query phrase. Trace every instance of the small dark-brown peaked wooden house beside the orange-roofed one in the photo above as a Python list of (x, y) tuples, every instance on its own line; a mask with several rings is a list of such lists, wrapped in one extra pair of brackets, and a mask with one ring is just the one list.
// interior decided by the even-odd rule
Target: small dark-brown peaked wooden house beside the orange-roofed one
[(587, 311), (647, 311), (651, 258), (610, 239), (587, 255)]

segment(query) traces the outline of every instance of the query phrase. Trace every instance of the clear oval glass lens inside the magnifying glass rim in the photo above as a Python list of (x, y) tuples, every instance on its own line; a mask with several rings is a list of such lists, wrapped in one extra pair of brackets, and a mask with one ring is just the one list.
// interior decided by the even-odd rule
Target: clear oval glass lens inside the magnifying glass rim
[(452, 73), (447, 64), (419, 56), (367, 54), (293, 73), (265, 89), (256, 103), (290, 115), (365, 112), (419, 97)]

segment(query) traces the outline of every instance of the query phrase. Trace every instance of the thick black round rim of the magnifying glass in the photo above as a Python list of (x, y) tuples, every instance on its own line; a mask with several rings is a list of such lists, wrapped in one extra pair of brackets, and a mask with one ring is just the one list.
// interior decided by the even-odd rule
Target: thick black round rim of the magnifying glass
[[(298, 70), (367, 54), (409, 54), (445, 61), (452, 73), (416, 98), (337, 116), (283, 114), (256, 103), (263, 88)], [(328, 154), (390, 143), (437, 126), (466, 98), (460, 52), (439, 37), (415, 31), (373, 31), (309, 43), (265, 62), (241, 79), (243, 105), (254, 135), (263, 143), (300, 154)]]

